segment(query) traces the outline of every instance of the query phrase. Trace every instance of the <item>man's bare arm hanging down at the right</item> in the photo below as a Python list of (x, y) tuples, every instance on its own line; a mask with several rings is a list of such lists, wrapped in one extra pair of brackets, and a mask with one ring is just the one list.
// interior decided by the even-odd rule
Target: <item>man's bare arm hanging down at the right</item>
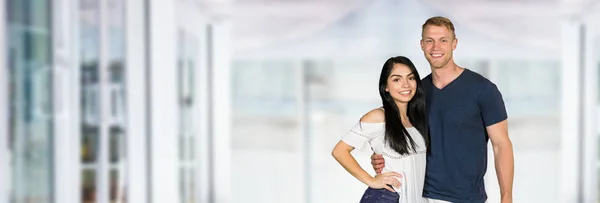
[(496, 176), (500, 184), (502, 203), (512, 203), (512, 186), (514, 178), (514, 157), (512, 142), (508, 137), (507, 120), (490, 125), (486, 128), (494, 148), (494, 163)]

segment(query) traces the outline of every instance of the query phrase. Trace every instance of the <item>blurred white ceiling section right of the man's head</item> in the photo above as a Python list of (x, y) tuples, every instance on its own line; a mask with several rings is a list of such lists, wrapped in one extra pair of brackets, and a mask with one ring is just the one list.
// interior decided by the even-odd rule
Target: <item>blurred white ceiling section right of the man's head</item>
[(422, 0), (454, 21), (484, 36), (516, 43), (560, 49), (565, 19), (600, 12), (597, 0)]

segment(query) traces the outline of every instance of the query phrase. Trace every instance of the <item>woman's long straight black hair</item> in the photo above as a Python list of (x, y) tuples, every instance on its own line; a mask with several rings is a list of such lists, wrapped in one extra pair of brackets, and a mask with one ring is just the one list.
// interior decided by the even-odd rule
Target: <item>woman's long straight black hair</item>
[[(408, 102), (406, 114), (410, 123), (423, 136), (426, 147), (429, 149), (429, 126), (427, 123), (427, 115), (425, 113), (425, 92), (421, 85), (421, 77), (412, 61), (404, 56), (392, 57), (385, 61), (385, 64), (383, 64), (383, 68), (381, 69), (381, 75), (379, 76), (379, 95), (381, 96), (383, 109), (385, 110), (384, 140), (392, 149), (402, 155), (409, 154), (409, 151), (416, 152), (415, 141), (411, 138), (400, 121), (400, 111), (398, 110), (398, 106), (396, 106), (396, 102), (394, 102), (390, 93), (385, 91), (388, 78), (394, 69), (394, 64), (406, 65), (414, 74), (413, 76), (417, 82), (417, 91), (415, 92), (414, 97)], [(411, 147), (408, 146), (409, 142)]]

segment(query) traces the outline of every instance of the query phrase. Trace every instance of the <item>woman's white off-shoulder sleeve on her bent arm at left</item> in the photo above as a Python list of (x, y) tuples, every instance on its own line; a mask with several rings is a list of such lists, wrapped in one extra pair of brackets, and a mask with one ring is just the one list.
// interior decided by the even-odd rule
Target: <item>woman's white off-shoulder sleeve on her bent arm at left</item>
[(371, 148), (369, 141), (383, 135), (384, 131), (385, 123), (358, 122), (349, 132), (342, 136), (342, 141), (354, 147), (354, 149), (364, 151)]

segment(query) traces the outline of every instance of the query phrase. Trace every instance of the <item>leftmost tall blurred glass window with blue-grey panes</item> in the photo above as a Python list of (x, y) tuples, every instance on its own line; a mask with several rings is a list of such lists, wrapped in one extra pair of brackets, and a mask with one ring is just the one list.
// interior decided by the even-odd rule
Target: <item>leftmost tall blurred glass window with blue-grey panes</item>
[(49, 0), (8, 0), (10, 202), (52, 201)]

